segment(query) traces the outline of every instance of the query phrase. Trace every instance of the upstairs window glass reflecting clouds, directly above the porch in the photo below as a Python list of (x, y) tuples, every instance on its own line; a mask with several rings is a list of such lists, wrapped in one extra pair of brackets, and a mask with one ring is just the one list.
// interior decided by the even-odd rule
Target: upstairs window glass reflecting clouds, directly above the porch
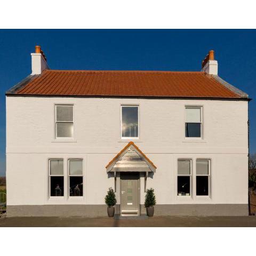
[(122, 107), (122, 137), (138, 137), (138, 107)]

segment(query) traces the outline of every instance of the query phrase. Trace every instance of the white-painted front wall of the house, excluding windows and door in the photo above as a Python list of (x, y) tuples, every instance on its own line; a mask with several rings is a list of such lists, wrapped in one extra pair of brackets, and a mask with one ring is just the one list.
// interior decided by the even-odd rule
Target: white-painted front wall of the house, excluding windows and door
[[(74, 104), (74, 140), (54, 139), (54, 103)], [(138, 104), (140, 139), (134, 142), (157, 166), (147, 187), (158, 204), (247, 204), (247, 102), (100, 98), (6, 97), (7, 204), (103, 204), (114, 187), (105, 166), (127, 144), (120, 105)], [(185, 106), (203, 106), (203, 140), (185, 138)], [(84, 159), (84, 198), (48, 199), (49, 158)], [(176, 196), (177, 159), (210, 158), (211, 197)], [(195, 176), (193, 176), (195, 184)], [(141, 204), (144, 203), (141, 179)], [(118, 189), (119, 190), (119, 189)], [(119, 197), (119, 196), (118, 196)]]

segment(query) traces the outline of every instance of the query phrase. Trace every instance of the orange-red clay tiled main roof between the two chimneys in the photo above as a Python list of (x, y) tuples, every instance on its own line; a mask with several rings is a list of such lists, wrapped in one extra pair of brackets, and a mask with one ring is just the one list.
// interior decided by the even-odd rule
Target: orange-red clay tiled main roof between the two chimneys
[[(44, 70), (6, 92), (80, 97), (247, 98), (204, 72)], [(223, 81), (223, 82), (222, 82)], [(233, 89), (236, 90), (233, 90)]]

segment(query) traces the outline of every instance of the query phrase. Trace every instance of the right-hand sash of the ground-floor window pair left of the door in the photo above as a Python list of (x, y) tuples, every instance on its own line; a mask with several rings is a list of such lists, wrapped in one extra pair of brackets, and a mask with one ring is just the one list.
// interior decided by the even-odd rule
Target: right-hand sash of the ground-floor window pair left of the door
[(83, 196), (83, 160), (69, 159), (69, 196)]

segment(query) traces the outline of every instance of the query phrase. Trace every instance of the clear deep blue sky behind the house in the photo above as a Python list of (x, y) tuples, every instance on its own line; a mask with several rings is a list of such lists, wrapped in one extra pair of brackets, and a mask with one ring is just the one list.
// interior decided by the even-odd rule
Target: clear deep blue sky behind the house
[[(31, 73), (41, 45), (52, 69), (199, 71), (213, 49), (219, 76), (256, 98), (256, 30), (0, 30), (0, 175), (5, 174), (5, 91)], [(250, 153), (256, 153), (250, 102)]]

